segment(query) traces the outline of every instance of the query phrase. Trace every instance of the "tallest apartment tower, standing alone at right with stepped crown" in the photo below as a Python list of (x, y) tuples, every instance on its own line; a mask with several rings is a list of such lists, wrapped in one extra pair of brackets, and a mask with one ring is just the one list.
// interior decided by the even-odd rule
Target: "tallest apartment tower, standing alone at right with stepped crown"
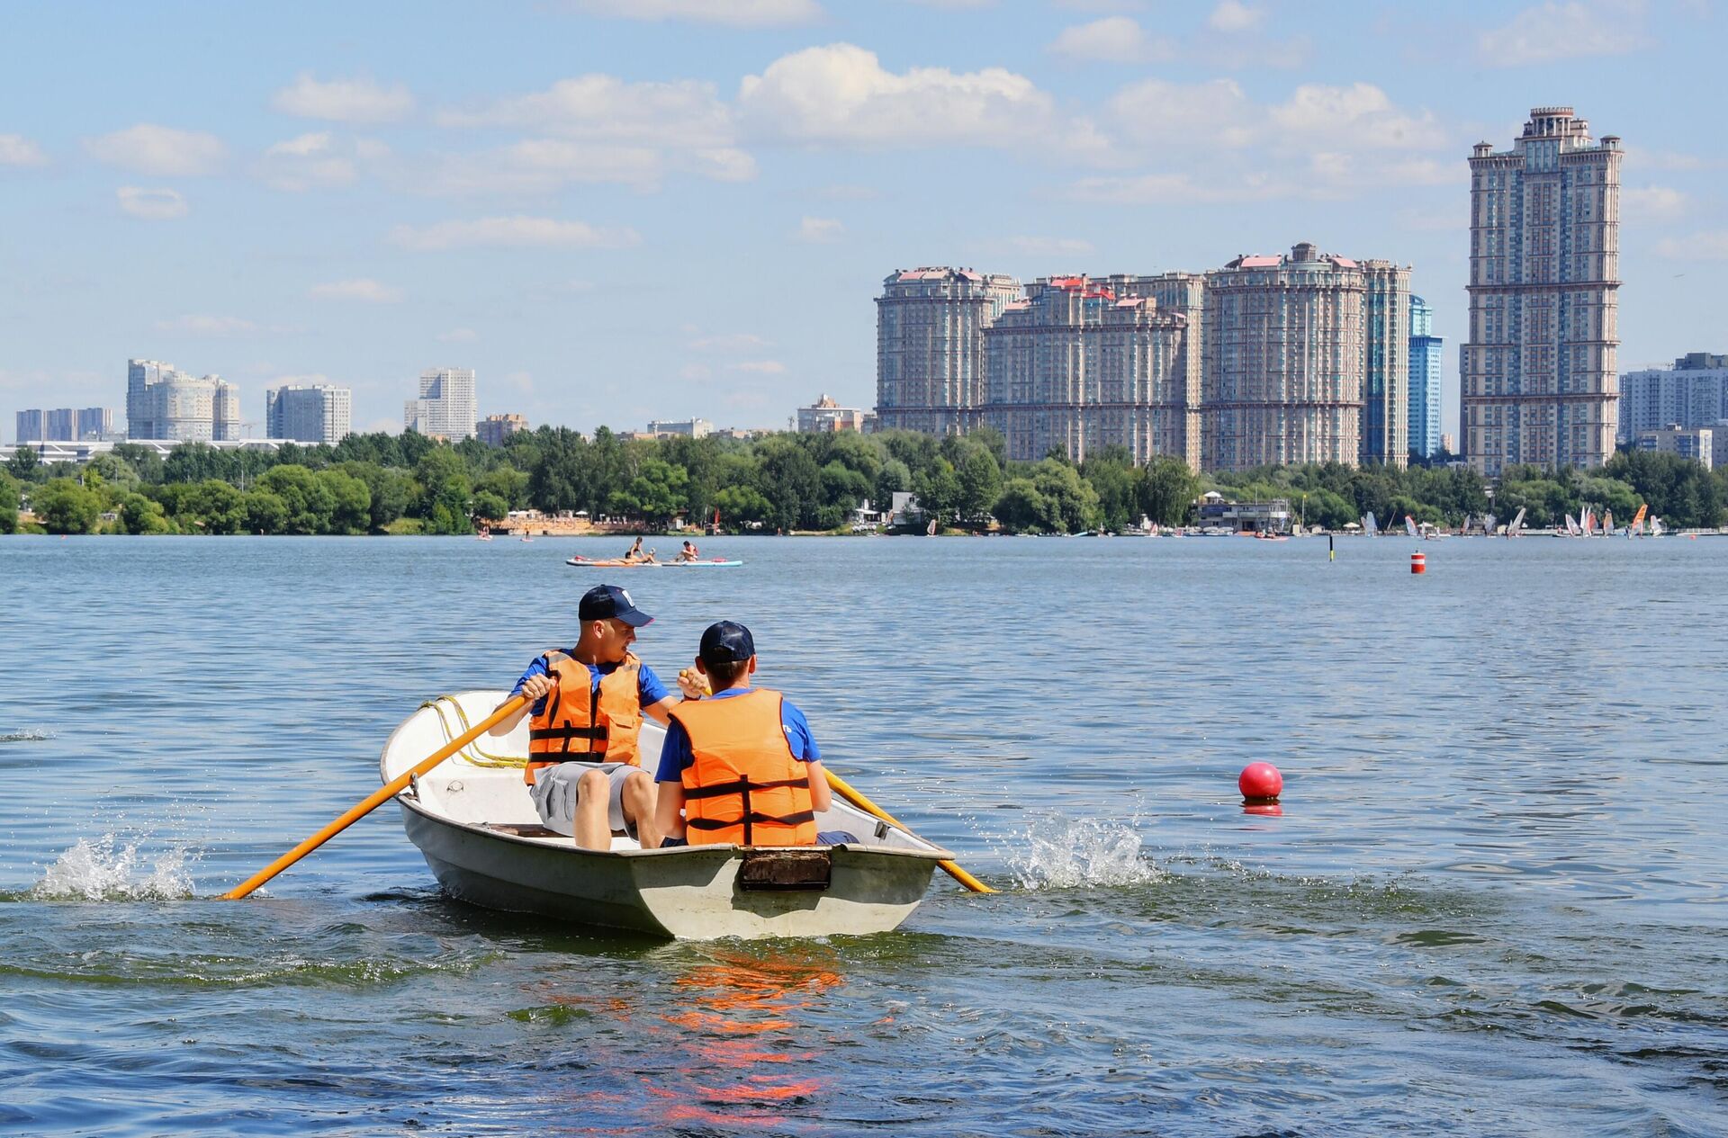
[(1536, 107), (1512, 150), (1471, 152), (1471, 330), (1460, 432), (1477, 473), (1600, 466), (1617, 433), (1621, 145)]

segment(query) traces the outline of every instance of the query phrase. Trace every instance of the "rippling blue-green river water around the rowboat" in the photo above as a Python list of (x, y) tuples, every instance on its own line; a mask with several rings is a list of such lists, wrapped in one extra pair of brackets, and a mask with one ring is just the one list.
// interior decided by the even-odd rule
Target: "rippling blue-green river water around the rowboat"
[(743, 620), (1001, 895), (620, 939), (444, 900), (387, 806), (211, 900), (615, 546), (0, 541), (0, 1133), (1728, 1133), (1721, 539), (705, 541), (610, 575), (643, 658)]

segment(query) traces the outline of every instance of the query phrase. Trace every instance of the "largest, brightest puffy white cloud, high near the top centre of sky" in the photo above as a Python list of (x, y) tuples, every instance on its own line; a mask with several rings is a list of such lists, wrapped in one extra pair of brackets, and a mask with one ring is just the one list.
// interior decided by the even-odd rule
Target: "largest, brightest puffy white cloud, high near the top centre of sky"
[(764, 136), (883, 147), (1023, 145), (1054, 119), (1051, 97), (1002, 67), (895, 74), (850, 43), (793, 52), (745, 76), (738, 109)]

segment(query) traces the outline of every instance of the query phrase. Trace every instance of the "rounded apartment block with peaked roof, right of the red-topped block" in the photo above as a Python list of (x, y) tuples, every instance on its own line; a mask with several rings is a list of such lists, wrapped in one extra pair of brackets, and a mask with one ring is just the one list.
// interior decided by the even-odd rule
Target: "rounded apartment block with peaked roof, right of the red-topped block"
[[(1391, 295), (1396, 275), (1386, 276), (1377, 287)], [(1367, 280), (1360, 262), (1322, 254), (1308, 242), (1294, 245), (1287, 257), (1241, 256), (1206, 273), (1201, 333), (1206, 470), (1360, 461), (1370, 359), (1363, 326)], [(1408, 294), (1408, 276), (1403, 280)], [(1403, 319), (1382, 321), (1382, 333), (1401, 333), (1403, 325)], [(1401, 389), (1408, 366), (1403, 376), (1393, 375), (1393, 368), (1408, 356), (1382, 347), (1381, 359), (1382, 383)], [(1382, 408), (1386, 397), (1382, 389)]]

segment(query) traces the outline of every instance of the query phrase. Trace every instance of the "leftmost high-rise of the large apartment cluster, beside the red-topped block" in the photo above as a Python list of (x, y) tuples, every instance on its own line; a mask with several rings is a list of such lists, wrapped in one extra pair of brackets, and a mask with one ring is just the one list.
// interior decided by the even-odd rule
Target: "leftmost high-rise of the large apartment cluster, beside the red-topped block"
[(983, 332), (1020, 299), (1020, 281), (973, 269), (893, 273), (876, 297), (876, 423), (949, 435), (983, 404)]

